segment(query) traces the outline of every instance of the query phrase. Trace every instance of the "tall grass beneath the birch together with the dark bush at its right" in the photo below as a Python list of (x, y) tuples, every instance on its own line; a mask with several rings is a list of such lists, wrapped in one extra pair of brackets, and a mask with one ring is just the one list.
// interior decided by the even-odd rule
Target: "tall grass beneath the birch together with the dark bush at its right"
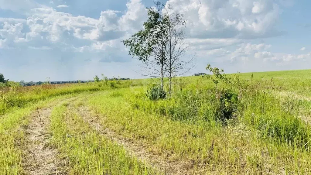
[[(156, 89), (156, 88), (155, 88)], [(216, 93), (217, 92), (217, 93)], [(237, 112), (237, 93), (231, 89), (216, 91), (215, 87), (185, 87), (165, 100), (151, 101), (135, 94), (130, 98), (133, 108), (169, 117), (174, 121), (209, 121), (222, 123)]]

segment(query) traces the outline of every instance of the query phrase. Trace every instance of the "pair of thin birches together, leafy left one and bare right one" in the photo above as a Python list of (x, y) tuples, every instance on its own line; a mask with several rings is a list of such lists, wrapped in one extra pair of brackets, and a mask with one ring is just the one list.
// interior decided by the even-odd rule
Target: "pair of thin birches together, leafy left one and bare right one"
[(184, 43), (184, 29), (186, 21), (183, 15), (172, 12), (171, 6), (155, 1), (155, 7), (147, 8), (147, 21), (143, 30), (133, 34), (123, 44), (129, 48), (132, 57), (137, 56), (142, 61), (144, 76), (157, 78), (161, 81), (163, 91), (164, 77), (168, 78), (168, 93), (172, 92), (172, 79), (192, 69), (193, 58), (181, 60), (190, 45)]

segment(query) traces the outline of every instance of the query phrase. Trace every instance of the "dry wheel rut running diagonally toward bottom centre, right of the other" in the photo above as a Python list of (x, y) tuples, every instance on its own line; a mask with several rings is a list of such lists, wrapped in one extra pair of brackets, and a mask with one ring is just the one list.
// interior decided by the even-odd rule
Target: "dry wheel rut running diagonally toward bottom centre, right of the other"
[(142, 144), (134, 140), (123, 138), (115, 132), (104, 127), (100, 123), (98, 116), (93, 116), (85, 106), (77, 108), (78, 114), (82, 116), (83, 120), (92, 125), (99, 133), (114, 140), (117, 144), (122, 145), (123, 148), (131, 155), (134, 155), (143, 162), (151, 164), (152, 167), (160, 170), (167, 175), (188, 175), (193, 174), (190, 163), (188, 162), (170, 162), (164, 156), (152, 154)]

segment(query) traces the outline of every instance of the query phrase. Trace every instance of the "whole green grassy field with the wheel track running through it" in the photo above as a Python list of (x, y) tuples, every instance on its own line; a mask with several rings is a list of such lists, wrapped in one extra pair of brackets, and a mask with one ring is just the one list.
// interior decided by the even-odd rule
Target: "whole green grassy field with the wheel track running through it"
[(239, 77), (0, 90), (0, 174), (311, 174), (311, 70)]

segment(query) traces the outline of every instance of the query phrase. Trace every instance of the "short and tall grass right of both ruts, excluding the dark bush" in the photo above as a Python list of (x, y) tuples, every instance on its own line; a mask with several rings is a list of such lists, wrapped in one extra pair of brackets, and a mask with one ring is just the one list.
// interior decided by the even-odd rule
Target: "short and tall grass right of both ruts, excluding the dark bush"
[[(272, 96), (258, 93), (241, 100), (238, 115), (223, 125), (215, 117), (214, 92), (196, 98), (189, 97), (188, 93), (193, 95), (190, 91), (181, 93), (168, 100), (149, 101), (143, 98), (142, 89), (122, 89), (98, 93), (89, 105), (102, 115), (103, 125), (144, 142), (156, 154), (188, 161), (194, 168), (204, 167), (206, 173), (311, 173), (311, 154), (305, 146), (310, 139), (308, 126), (283, 112), (276, 105), (280, 101)], [(191, 106), (196, 99), (199, 104)], [(262, 115), (255, 120), (248, 116), (257, 114)]]

